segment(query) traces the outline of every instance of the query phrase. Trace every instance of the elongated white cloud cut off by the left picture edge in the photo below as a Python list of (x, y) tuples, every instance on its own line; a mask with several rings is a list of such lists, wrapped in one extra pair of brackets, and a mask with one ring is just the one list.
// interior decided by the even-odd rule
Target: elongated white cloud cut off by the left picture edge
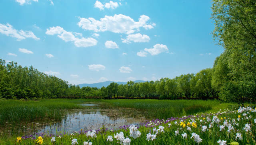
[(40, 38), (36, 37), (36, 35), (34, 35), (32, 31), (23, 31), (23, 30), (17, 31), (12, 27), (12, 25), (8, 23), (6, 25), (0, 24), (0, 33), (10, 37), (17, 38), (17, 41), (20, 41), (26, 38), (33, 38), (35, 40), (40, 40)]

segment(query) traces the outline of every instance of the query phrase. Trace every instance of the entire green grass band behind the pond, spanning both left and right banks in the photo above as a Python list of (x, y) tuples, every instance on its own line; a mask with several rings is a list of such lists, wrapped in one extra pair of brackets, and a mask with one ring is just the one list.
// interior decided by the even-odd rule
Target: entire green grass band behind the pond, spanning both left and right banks
[(166, 119), (172, 116), (216, 112), (227, 108), (232, 103), (221, 103), (218, 100), (101, 100), (101, 99), (45, 99), (38, 101), (0, 100), (0, 125), (17, 124), (21, 121), (35, 119), (61, 120), (67, 109), (85, 108), (79, 106), (85, 102), (103, 102), (106, 107), (135, 108), (145, 111), (148, 118)]

